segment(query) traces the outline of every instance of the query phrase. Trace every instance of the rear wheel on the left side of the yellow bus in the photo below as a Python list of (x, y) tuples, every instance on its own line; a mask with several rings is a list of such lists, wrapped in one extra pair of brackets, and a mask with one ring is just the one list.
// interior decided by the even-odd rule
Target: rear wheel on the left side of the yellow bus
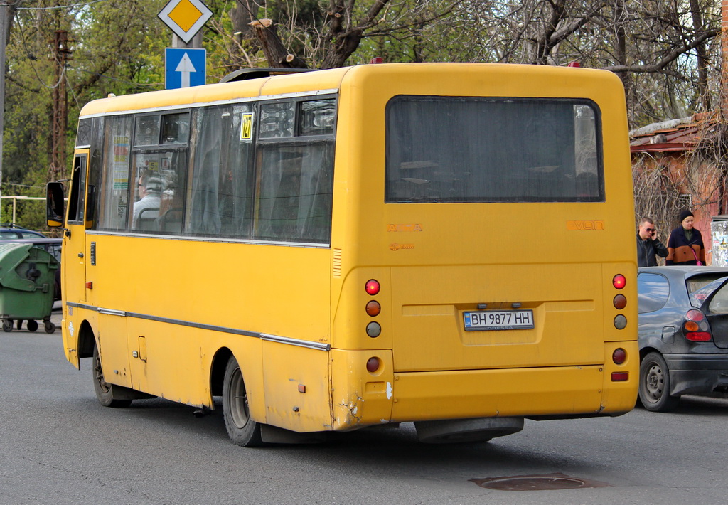
[(223, 418), (228, 435), (235, 445), (261, 447), (261, 425), (250, 419), (248, 393), (242, 380), (240, 365), (230, 356), (223, 382)]

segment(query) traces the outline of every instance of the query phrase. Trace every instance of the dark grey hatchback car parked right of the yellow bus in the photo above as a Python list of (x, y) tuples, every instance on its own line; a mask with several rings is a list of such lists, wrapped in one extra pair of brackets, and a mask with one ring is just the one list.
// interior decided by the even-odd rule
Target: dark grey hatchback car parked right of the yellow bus
[(728, 391), (728, 268), (640, 268), (637, 291), (646, 410), (672, 410), (684, 394)]

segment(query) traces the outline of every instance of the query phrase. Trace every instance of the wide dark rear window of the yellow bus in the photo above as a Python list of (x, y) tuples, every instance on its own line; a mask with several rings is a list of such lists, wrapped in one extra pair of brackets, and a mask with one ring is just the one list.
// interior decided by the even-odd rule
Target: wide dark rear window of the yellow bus
[(596, 104), (397, 96), (387, 203), (604, 201)]

